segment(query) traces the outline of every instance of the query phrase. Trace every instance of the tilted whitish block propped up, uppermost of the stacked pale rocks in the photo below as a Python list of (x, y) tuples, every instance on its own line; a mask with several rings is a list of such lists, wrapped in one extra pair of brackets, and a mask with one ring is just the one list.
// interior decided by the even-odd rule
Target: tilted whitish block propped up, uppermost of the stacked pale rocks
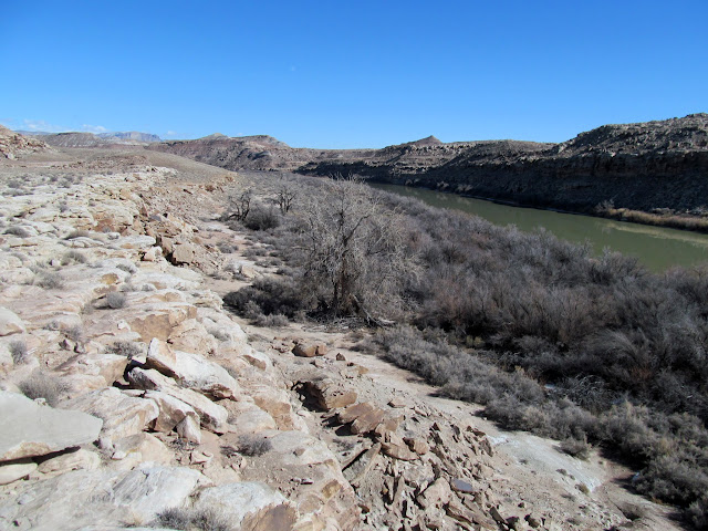
[(198, 354), (175, 351), (157, 337), (147, 348), (146, 366), (217, 399), (235, 399), (241, 394), (238, 382), (223, 367)]

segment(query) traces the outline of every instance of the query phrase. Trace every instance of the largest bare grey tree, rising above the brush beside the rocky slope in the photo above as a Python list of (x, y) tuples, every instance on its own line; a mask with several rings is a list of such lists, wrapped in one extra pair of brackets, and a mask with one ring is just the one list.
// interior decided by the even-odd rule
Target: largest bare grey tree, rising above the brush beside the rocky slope
[(381, 324), (381, 313), (400, 309), (402, 288), (417, 264), (406, 250), (402, 218), (368, 186), (353, 178), (329, 181), (323, 195), (305, 202), (302, 221), (305, 277), (325, 310)]

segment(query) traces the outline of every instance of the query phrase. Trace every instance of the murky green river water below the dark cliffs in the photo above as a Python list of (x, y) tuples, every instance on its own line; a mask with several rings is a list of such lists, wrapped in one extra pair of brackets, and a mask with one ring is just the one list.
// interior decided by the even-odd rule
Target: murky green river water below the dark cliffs
[(496, 225), (516, 225), (524, 231), (543, 227), (565, 240), (577, 243), (589, 241), (596, 254), (607, 247), (637, 257), (648, 269), (656, 272), (665, 271), (673, 266), (691, 267), (708, 261), (708, 235), (513, 207), (420, 188), (373, 186), (402, 196), (415, 197), (434, 207), (475, 214)]

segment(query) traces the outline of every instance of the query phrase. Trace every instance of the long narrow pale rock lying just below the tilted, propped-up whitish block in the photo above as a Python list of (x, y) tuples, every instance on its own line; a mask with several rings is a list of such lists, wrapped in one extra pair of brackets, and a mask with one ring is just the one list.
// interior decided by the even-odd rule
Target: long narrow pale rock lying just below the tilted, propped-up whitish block
[(217, 434), (226, 431), (229, 415), (222, 406), (195, 391), (178, 387), (174, 379), (162, 375), (154, 368), (146, 371), (136, 367), (128, 373), (128, 381), (135, 388), (162, 391), (189, 404), (199, 415), (199, 420), (205, 428)]

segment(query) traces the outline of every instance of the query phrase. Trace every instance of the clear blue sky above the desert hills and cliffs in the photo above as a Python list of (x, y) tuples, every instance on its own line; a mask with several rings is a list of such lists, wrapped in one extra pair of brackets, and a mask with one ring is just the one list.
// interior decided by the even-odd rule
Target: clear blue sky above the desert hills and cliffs
[(708, 112), (708, 1), (6, 0), (0, 123), (561, 142)]

